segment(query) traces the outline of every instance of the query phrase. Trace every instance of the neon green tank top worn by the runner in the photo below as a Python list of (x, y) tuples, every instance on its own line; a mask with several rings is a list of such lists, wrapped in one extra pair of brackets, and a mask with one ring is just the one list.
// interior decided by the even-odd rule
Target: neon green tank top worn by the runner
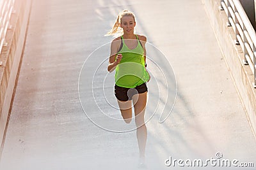
[(122, 53), (122, 59), (116, 66), (115, 83), (120, 87), (134, 88), (148, 81), (149, 75), (145, 69), (145, 60), (143, 57), (143, 47), (136, 35), (138, 45), (134, 49), (129, 49), (122, 39), (122, 49), (118, 53)]

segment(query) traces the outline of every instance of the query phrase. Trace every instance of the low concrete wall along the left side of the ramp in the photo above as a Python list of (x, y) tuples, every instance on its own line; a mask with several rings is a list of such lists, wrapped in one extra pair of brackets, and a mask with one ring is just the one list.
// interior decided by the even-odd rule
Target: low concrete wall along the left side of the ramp
[(15, 81), (19, 71), (20, 59), (26, 37), (31, 0), (16, 0), (10, 25), (6, 34), (7, 46), (0, 55), (3, 66), (0, 66), (0, 141), (1, 148), (4, 131), (8, 122)]

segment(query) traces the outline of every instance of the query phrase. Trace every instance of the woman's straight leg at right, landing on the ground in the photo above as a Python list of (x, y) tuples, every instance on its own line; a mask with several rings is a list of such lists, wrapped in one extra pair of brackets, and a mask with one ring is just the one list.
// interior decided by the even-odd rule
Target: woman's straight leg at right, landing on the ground
[[(138, 100), (136, 100), (136, 98)], [(135, 123), (137, 127), (137, 140), (140, 150), (140, 159), (145, 160), (145, 148), (147, 143), (147, 127), (145, 125), (144, 115), (147, 104), (147, 92), (136, 94), (132, 97), (134, 101)]]

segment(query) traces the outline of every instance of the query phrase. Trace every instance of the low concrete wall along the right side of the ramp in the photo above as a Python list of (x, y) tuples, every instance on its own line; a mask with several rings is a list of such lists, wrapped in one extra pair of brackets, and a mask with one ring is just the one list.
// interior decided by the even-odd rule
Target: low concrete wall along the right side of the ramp
[(253, 73), (249, 66), (243, 64), (243, 51), (235, 45), (232, 27), (227, 27), (227, 15), (220, 10), (219, 0), (202, 0), (209, 15), (211, 25), (219, 41), (223, 57), (246, 110), (252, 131), (256, 132), (256, 89), (253, 88)]

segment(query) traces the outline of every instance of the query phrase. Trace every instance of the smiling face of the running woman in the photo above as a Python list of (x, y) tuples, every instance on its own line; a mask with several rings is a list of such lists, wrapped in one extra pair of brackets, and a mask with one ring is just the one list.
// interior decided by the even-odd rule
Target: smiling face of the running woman
[(135, 25), (136, 22), (134, 21), (132, 16), (122, 17), (120, 27), (124, 29), (124, 34), (133, 34)]

